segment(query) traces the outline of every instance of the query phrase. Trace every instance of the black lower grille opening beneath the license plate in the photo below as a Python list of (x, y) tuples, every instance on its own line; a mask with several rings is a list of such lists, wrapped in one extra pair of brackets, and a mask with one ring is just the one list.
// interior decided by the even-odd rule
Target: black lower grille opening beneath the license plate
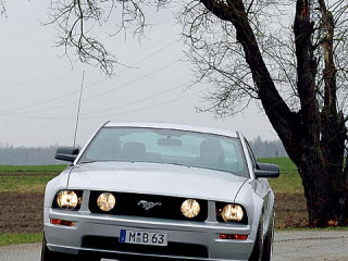
[(136, 244), (123, 244), (117, 237), (85, 236), (82, 248), (94, 248), (109, 251), (122, 251), (128, 253), (163, 254), (187, 258), (209, 258), (207, 247), (182, 243), (167, 243), (167, 246), (147, 246)]

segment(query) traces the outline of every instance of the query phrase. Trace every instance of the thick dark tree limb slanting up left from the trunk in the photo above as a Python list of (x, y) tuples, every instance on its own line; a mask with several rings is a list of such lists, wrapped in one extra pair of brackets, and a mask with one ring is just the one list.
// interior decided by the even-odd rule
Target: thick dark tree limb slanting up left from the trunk
[(223, 1), (201, 0), (201, 2), (219, 18), (233, 23), (236, 29), (236, 38), (243, 46), (246, 62), (251, 70), (253, 83), (257, 86), (265, 113), (283, 142), (295, 142), (294, 139), (296, 137), (289, 137), (289, 129), (294, 129), (294, 123), (296, 125), (295, 113), (291, 113), (275, 88), (260, 52), (254, 33), (250, 27), (243, 1), (229, 0), (225, 3)]

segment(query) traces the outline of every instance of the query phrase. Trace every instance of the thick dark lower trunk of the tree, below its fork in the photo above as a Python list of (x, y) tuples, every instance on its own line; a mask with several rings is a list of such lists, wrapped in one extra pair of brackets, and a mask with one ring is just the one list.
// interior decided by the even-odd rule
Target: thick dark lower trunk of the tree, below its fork
[[(301, 121), (300, 121), (301, 122)], [(344, 133), (344, 128), (340, 133)], [(295, 133), (298, 138), (295, 144), (289, 144), (285, 137), (285, 149), (288, 156), (298, 167), (302, 179), (304, 197), (307, 200), (307, 210), (309, 226), (347, 226), (348, 225), (348, 206), (347, 206), (347, 181), (348, 162), (345, 171), (344, 148), (345, 135), (333, 135), (332, 147), (314, 147), (307, 137), (308, 132), (303, 130), (301, 124)], [(283, 137), (284, 138), (284, 137)], [(333, 150), (336, 148), (337, 150)], [(330, 161), (330, 159), (333, 159)], [(340, 162), (339, 162), (340, 160)], [(335, 162), (335, 163), (334, 163)]]

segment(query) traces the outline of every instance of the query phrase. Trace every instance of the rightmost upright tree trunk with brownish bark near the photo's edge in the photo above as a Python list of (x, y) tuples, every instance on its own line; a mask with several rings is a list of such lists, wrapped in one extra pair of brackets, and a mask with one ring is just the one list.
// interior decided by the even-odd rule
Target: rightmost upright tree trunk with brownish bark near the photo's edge
[[(319, 9), (322, 13), (321, 30), (323, 38), (321, 46), (325, 67), (323, 70), (324, 79), (324, 107), (321, 113), (322, 139), (321, 148), (327, 163), (330, 184), (332, 189), (335, 220), (339, 225), (346, 223), (347, 213), (347, 173), (343, 171), (345, 156), (345, 140), (347, 128), (345, 126), (343, 112), (337, 112), (337, 83), (336, 66), (334, 61), (334, 33), (335, 22), (332, 12), (326, 8), (324, 0), (319, 0)], [(346, 214), (345, 214), (346, 213)]]

